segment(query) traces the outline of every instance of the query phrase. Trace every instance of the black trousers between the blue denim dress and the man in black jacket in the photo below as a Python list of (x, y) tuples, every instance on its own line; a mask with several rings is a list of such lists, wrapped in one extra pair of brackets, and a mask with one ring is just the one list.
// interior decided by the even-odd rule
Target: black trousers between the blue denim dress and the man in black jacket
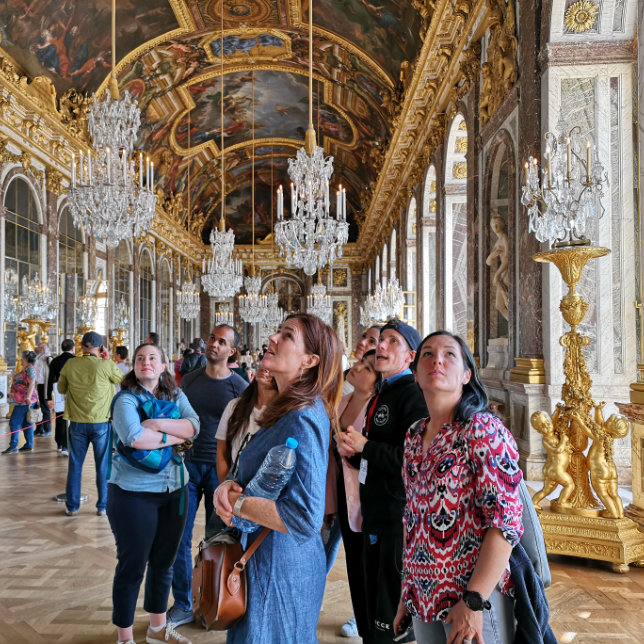
[[(364, 585), (363, 555), (364, 535), (362, 532), (354, 532), (349, 526), (347, 515), (347, 497), (344, 489), (344, 476), (342, 466), (338, 476), (338, 520), (344, 544), (344, 554), (347, 560), (347, 580), (349, 592), (351, 593), (351, 604), (353, 614), (356, 618), (356, 626), (360, 637), (365, 638), (369, 633), (369, 622), (367, 620), (367, 607), (365, 604), (366, 589)], [(365, 640), (366, 641), (366, 640)]]

